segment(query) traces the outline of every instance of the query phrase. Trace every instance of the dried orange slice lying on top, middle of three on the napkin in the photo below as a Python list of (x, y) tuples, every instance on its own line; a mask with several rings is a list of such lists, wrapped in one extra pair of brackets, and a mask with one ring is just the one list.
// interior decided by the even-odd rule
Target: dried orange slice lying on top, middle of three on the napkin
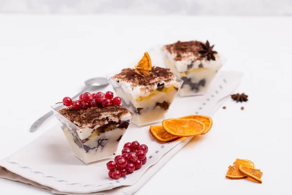
[(162, 121), (162, 126), (167, 133), (178, 137), (197, 136), (206, 129), (205, 124), (199, 120), (184, 118), (164, 120)]

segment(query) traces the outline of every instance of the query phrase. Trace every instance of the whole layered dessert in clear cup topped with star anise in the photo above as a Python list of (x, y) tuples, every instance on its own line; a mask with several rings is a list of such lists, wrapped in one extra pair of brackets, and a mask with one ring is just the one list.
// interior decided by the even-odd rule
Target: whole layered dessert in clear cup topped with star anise
[(183, 80), (180, 96), (205, 93), (222, 66), (222, 60), (213, 51), (209, 41), (178, 41), (162, 47), (163, 60), (167, 68)]

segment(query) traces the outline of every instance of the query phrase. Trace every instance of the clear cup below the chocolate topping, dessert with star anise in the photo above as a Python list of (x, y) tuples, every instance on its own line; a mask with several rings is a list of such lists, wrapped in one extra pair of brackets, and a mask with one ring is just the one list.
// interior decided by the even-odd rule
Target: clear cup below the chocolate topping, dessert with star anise
[(180, 97), (205, 94), (226, 61), (221, 55), (215, 54), (216, 60), (197, 60), (188, 63), (174, 60), (164, 47), (161, 51), (165, 67), (169, 68), (177, 78), (183, 80), (183, 85), (179, 90)]

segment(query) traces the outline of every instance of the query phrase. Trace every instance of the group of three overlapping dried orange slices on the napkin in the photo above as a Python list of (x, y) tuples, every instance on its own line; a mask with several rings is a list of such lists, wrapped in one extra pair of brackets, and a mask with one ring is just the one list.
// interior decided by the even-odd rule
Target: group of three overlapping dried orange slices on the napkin
[[(187, 120), (190, 120), (190, 121), (185, 122)], [(192, 120), (195, 120), (195, 121), (192, 121)], [(176, 121), (174, 121), (174, 119), (168, 119), (165, 121), (166, 122), (164, 122), (164, 125), (150, 126), (150, 133), (153, 135), (153, 137), (155, 137), (159, 141), (164, 141), (164, 142), (172, 141), (180, 137), (189, 137), (189, 136), (206, 134), (210, 131), (213, 125), (212, 118), (203, 116), (203, 115), (190, 115), (190, 116), (177, 118)], [(174, 124), (177, 121), (181, 121), (181, 122)], [(187, 123), (187, 126), (184, 126), (184, 124), (181, 124), (182, 121), (184, 123)], [(191, 124), (192, 122), (195, 122), (197, 126), (192, 126), (194, 125), (194, 124)], [(201, 124), (204, 124), (204, 127), (202, 127), (202, 129), (200, 126)], [(190, 125), (192, 127), (189, 127)], [(178, 135), (178, 131), (180, 131), (180, 133), (182, 132), (184, 133)]]

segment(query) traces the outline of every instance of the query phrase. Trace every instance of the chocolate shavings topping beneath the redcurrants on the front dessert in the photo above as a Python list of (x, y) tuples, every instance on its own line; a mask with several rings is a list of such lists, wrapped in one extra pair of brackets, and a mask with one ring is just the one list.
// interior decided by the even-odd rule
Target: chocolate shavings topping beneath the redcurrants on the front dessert
[[(106, 108), (91, 107), (86, 110), (74, 110), (70, 106), (59, 110), (59, 113), (79, 127), (87, 126), (90, 128), (93, 128), (97, 124), (102, 126), (109, 120), (117, 120), (126, 115), (133, 115), (127, 108), (117, 105)], [(108, 115), (108, 117), (103, 117), (103, 115)]]

